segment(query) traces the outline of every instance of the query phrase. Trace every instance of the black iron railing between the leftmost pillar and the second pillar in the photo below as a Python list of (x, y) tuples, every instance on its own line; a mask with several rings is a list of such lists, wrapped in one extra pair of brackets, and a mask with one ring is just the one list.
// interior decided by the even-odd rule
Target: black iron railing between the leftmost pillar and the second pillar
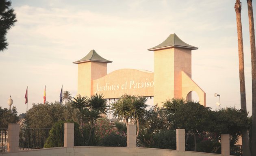
[(43, 148), (46, 143), (46, 139), (49, 137), (51, 128), (40, 128), (40, 129), (20, 129), (20, 150), (30, 150)]

